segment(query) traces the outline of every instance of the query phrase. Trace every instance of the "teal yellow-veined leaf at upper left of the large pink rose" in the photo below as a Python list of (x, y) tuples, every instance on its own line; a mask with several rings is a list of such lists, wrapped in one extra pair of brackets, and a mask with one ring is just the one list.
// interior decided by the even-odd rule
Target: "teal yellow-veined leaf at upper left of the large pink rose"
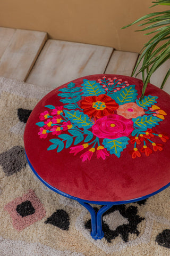
[(94, 123), (89, 119), (88, 115), (79, 110), (64, 110), (65, 117), (67, 117), (74, 125), (79, 128), (89, 129)]

